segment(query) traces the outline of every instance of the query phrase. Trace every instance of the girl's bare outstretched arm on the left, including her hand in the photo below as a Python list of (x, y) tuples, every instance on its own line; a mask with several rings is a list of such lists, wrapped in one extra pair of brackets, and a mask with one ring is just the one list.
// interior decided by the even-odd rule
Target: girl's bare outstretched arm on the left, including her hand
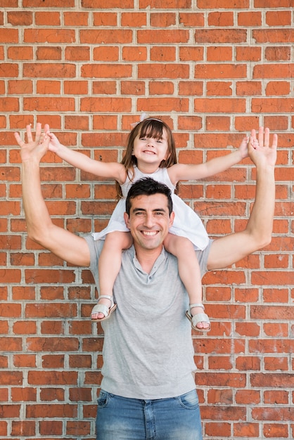
[(51, 133), (48, 124), (45, 124), (44, 129), (46, 136), (50, 139), (49, 150), (56, 153), (60, 159), (65, 160), (65, 162), (68, 162), (73, 167), (82, 169), (84, 172), (98, 177), (115, 179), (120, 184), (124, 183), (126, 172), (122, 164), (118, 162), (99, 162), (98, 160), (91, 159), (87, 155), (65, 147), (65, 145), (60, 143), (55, 134)]

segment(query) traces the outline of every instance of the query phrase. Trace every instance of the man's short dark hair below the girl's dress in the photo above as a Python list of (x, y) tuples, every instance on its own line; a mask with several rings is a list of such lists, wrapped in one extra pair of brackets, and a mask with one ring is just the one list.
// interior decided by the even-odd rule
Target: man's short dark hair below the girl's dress
[(139, 179), (131, 186), (129, 193), (127, 193), (126, 199), (126, 212), (129, 215), (132, 206), (132, 199), (138, 197), (139, 195), (153, 195), (153, 194), (163, 194), (167, 198), (167, 207), (169, 214), (172, 214), (172, 193), (170, 188), (164, 183), (160, 183), (152, 179), (151, 177), (144, 177)]

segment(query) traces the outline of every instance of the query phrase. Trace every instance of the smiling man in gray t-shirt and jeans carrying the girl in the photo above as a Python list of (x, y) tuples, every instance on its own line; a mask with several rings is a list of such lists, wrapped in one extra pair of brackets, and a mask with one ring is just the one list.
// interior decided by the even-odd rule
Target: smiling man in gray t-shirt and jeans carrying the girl
[[(46, 127), (45, 127), (46, 131)], [(39, 162), (49, 139), (37, 124), (35, 139), (18, 134), (23, 162), (23, 202), (32, 240), (76, 266), (89, 266), (97, 283), (102, 242), (55, 226), (41, 195)], [(267, 245), (274, 216), (274, 164), (277, 136), (253, 130), (248, 153), (257, 168), (256, 197), (245, 231), (198, 251), (202, 273), (224, 268)], [(152, 179), (135, 183), (126, 202), (125, 221), (134, 246), (124, 251), (115, 281), (117, 310), (103, 321), (103, 380), (98, 399), (98, 440), (201, 440), (195, 390), (191, 327), (185, 317), (188, 296), (177, 259), (162, 242), (174, 214), (168, 188)], [(172, 324), (171, 324), (172, 323)]]

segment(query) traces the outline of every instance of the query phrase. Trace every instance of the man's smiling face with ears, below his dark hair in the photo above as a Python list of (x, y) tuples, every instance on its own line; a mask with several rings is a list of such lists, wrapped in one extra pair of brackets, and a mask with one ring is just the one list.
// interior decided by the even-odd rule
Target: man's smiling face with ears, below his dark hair
[(174, 220), (174, 212), (169, 214), (167, 197), (164, 194), (139, 195), (132, 199), (129, 212), (124, 220), (134, 239), (135, 247), (144, 250), (162, 248)]

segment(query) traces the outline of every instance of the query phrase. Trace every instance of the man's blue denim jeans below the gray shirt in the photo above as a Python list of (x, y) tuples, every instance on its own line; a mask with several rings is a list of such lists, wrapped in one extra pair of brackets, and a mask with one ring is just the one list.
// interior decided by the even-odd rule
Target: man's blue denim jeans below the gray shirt
[(202, 440), (196, 390), (170, 399), (141, 400), (101, 389), (97, 440)]

